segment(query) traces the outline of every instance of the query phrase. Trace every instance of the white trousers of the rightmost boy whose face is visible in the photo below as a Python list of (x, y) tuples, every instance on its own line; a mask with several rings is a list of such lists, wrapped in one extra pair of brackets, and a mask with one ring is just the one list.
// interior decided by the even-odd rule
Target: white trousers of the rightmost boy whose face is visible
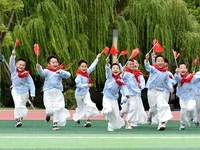
[(180, 121), (185, 125), (190, 125), (189, 121), (194, 119), (194, 109), (196, 107), (195, 100), (179, 100), (179, 104), (181, 107), (180, 110)]

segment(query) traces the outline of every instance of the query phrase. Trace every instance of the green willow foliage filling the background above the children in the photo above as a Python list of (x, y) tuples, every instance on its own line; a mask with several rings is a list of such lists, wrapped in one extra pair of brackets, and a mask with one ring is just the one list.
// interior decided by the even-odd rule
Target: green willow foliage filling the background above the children
[[(7, 8), (1, 11), (3, 24), (7, 24), (7, 16), (12, 9), (22, 8), (24, 4), (23, 10), (16, 12), (11, 26), (13, 42), (6, 40), (2, 53), (8, 60), (15, 39), (20, 38), (17, 57), (26, 58), (27, 69), (34, 79), (38, 78), (33, 52), (35, 43), (39, 44), (39, 63), (43, 67), (46, 67), (48, 55), (57, 55), (75, 78), (80, 59), (85, 59), (89, 66), (106, 46), (112, 46), (113, 29), (118, 29), (118, 50), (129, 50), (127, 56), (120, 57), (120, 62), (124, 64), (132, 49), (138, 47), (140, 54), (137, 59), (142, 72), (145, 72), (144, 55), (151, 49), (154, 39), (162, 44), (163, 55), (168, 58), (172, 72), (175, 70), (172, 49), (180, 52), (178, 62), (184, 61), (190, 71), (193, 70), (192, 61), (200, 55), (199, 1), (23, 0), (22, 4), (16, 0), (19, 5), (15, 7), (13, 1), (0, 2), (0, 8)], [(0, 26), (0, 29), (7, 31), (5, 26)], [(96, 87), (102, 87), (105, 82), (106, 57), (103, 54), (91, 74)], [(198, 65), (196, 70), (199, 69)]]

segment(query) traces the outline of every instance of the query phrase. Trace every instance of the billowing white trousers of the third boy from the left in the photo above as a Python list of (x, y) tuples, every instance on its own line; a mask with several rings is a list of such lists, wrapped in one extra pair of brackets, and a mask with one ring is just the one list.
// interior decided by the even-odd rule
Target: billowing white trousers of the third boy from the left
[(77, 108), (75, 113), (73, 114), (74, 121), (83, 119), (85, 115), (86, 119), (90, 119), (94, 116), (99, 115), (99, 111), (96, 107), (96, 104), (92, 102), (89, 92), (84, 96), (75, 95), (75, 97)]

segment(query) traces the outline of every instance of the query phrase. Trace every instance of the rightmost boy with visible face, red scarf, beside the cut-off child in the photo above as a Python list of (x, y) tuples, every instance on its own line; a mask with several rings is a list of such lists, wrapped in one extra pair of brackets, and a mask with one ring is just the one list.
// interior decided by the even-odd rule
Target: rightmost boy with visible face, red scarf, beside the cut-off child
[(199, 82), (200, 78), (194, 74), (189, 74), (186, 64), (181, 63), (179, 68), (176, 69), (174, 79), (178, 83), (176, 95), (179, 97), (181, 108), (179, 130), (184, 130), (185, 126), (190, 126), (190, 121), (194, 119), (194, 110), (196, 107), (194, 83)]

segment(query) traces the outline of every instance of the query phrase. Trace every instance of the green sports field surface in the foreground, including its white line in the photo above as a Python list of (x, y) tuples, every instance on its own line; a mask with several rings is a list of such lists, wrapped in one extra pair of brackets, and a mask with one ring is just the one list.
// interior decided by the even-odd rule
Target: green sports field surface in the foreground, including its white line
[(136, 150), (199, 150), (200, 127), (191, 123), (179, 131), (179, 121), (169, 121), (165, 131), (157, 131), (157, 125), (140, 125), (133, 130), (124, 128), (107, 131), (107, 121), (92, 121), (92, 127), (83, 127), (68, 121), (65, 127), (52, 131), (52, 122), (23, 121), (15, 128), (14, 121), (0, 121), (0, 149), (136, 149)]

